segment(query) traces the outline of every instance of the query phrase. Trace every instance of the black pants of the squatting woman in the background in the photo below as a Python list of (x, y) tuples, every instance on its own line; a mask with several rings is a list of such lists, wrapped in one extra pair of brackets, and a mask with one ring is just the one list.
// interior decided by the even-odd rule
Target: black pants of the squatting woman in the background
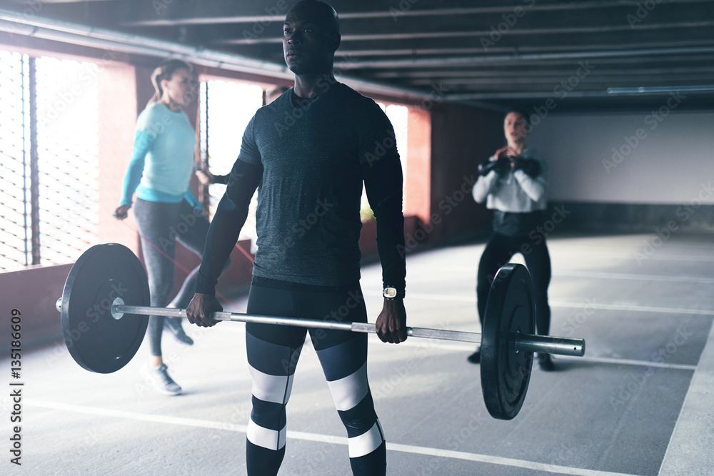
[(533, 300), (535, 300), (535, 329), (540, 335), (550, 331), (550, 306), (548, 305), (548, 284), (550, 283), (550, 254), (545, 238), (538, 235), (535, 239), (505, 236), (493, 233), (483, 250), (476, 275), (476, 305), (478, 318), (483, 327), (486, 315), (486, 298), (491, 288), (493, 276), (501, 266), (508, 263), (511, 256), (521, 253), (526, 260), (526, 268), (533, 280)]

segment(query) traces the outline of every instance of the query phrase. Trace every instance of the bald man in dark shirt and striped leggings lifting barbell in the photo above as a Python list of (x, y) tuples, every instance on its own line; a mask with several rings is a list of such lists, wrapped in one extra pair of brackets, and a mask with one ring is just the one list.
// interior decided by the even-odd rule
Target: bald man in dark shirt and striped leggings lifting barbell
[[(256, 112), (243, 135), (226, 195), (208, 231), (188, 320), (215, 325), (214, 298), (262, 180), (257, 245), (248, 313), (366, 322), (359, 285), (362, 184), (377, 222), (383, 308), (376, 320), (383, 342), (406, 340), (406, 265), (401, 164), (394, 131), (370, 98), (333, 76), (340, 45), (334, 9), (304, 0), (286, 16), (283, 51), (295, 86)], [(253, 410), (248, 422), (249, 475), (275, 475), (286, 444), (286, 405), (305, 328), (246, 324)], [(310, 330), (348, 435), (355, 475), (383, 475), (386, 449), (367, 382), (365, 334)]]

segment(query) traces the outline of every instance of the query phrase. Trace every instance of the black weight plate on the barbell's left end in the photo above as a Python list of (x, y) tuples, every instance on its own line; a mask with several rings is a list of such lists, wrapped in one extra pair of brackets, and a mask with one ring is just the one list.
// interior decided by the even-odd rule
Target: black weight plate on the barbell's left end
[(95, 245), (76, 260), (62, 293), (62, 333), (76, 363), (96, 373), (124, 367), (144, 340), (148, 315), (116, 320), (111, 304), (149, 305), (149, 282), (139, 258), (117, 243)]

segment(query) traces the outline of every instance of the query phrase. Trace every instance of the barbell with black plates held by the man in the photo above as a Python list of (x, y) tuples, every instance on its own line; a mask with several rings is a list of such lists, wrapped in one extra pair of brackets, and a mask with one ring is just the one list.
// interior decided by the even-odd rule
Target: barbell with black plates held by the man
[[(185, 309), (149, 307), (149, 281), (139, 258), (124, 245), (106, 243), (86, 250), (72, 266), (56, 308), (69, 353), (82, 368), (112, 373), (139, 350), (149, 315), (185, 318)], [(214, 320), (293, 325), (376, 333), (371, 323), (217, 312)], [(493, 278), (483, 333), (407, 328), (417, 338), (481, 344), (481, 388), (488, 412), (511, 420), (526, 399), (533, 353), (585, 355), (585, 340), (534, 335), (533, 283), (525, 266), (507, 264)]]

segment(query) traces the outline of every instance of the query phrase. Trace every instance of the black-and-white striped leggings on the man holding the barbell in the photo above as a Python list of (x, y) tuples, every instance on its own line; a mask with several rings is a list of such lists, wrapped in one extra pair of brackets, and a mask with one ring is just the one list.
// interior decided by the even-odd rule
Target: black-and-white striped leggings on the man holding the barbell
[[(359, 283), (326, 287), (253, 278), (248, 313), (366, 322)], [(285, 455), (286, 405), (306, 333), (345, 425), (354, 475), (383, 475), (386, 445), (367, 382), (367, 335), (345, 330), (246, 324), (253, 410), (248, 422), (248, 475), (276, 475)]]

